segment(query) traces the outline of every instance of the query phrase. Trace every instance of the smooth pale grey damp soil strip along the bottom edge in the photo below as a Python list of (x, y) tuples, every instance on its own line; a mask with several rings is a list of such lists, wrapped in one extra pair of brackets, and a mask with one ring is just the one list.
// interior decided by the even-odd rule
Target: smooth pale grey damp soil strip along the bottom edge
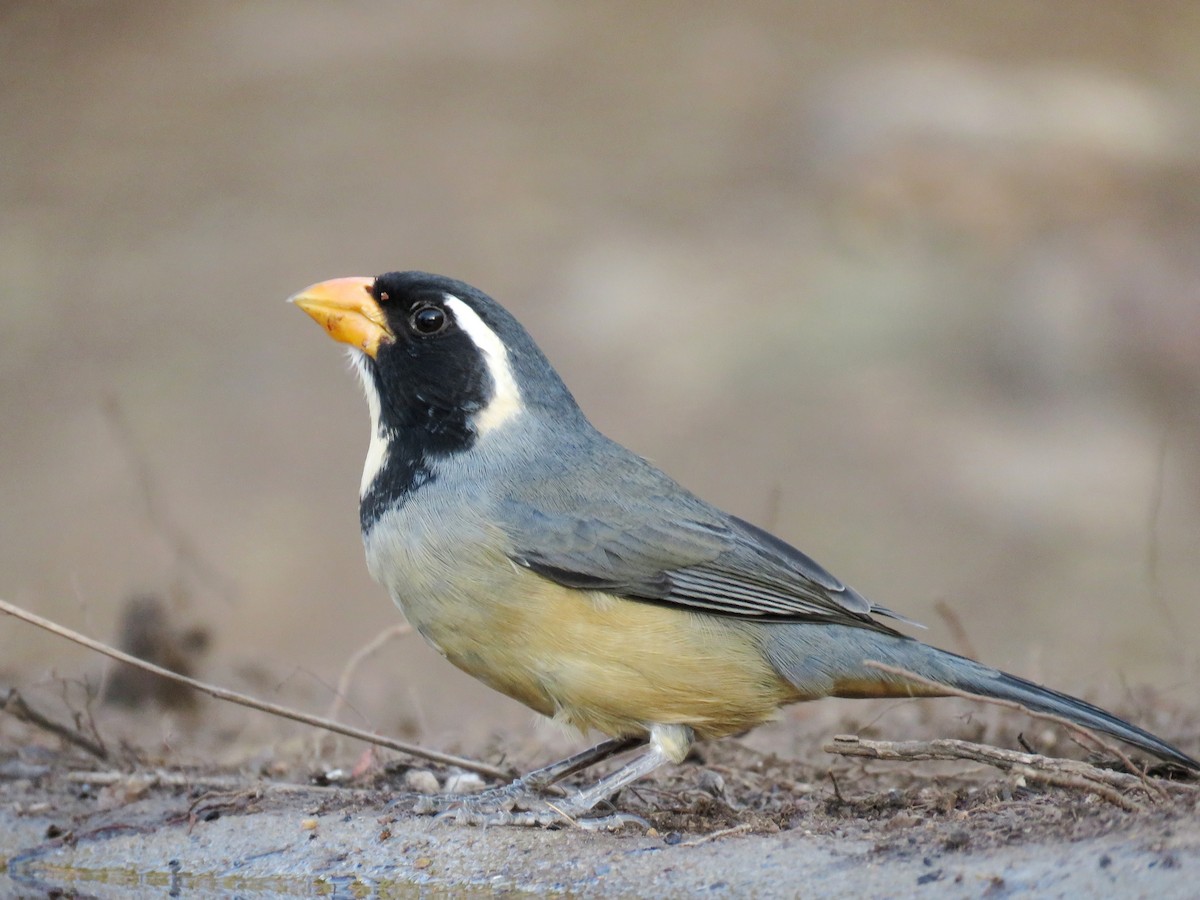
[[(197, 803), (152, 791), (88, 830), (47, 840), (68, 812), (0, 824), (23, 850), (6, 895), (268, 898), (461, 893), (664, 896), (1194, 896), (1200, 827), (1183, 811), (1112, 821), (1085, 804), (1013, 802), (998, 818), (1075, 820), (1072, 834), (996, 842), (991, 822), (926, 824), (901, 815), (836, 829), (710, 841), (690, 833), (590, 834), (431, 824), (386, 810), (385, 794), (247, 787)], [(68, 800), (64, 799), (64, 804)], [(1046, 809), (1049, 808), (1049, 810)], [(67, 809), (71, 809), (68, 805)], [(198, 812), (190, 822), (188, 811)], [(1082, 833), (1080, 833), (1082, 832)], [(980, 840), (982, 839), (982, 840)], [(11, 839), (10, 839), (11, 840)], [(53, 893), (60, 892), (60, 893)], [(440, 893), (440, 892), (436, 892)]]

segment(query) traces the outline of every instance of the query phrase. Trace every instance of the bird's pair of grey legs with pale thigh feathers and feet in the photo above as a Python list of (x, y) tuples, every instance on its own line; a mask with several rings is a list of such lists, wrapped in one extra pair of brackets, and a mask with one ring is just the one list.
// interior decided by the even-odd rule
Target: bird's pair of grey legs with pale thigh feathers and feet
[(619, 828), (624, 824), (646, 826), (641, 816), (617, 812), (611, 816), (584, 818), (602, 800), (632, 781), (648, 775), (666, 762), (678, 762), (691, 746), (691, 730), (684, 726), (654, 726), (646, 752), (631, 760), (592, 787), (563, 799), (546, 800), (540, 791), (618, 752), (641, 743), (635, 738), (617, 738), (598, 744), (566, 760), (530, 772), (506, 787), (467, 797), (422, 798), (414, 811), (436, 812), (439, 820), (461, 824), (552, 826), (575, 822), (592, 829)]

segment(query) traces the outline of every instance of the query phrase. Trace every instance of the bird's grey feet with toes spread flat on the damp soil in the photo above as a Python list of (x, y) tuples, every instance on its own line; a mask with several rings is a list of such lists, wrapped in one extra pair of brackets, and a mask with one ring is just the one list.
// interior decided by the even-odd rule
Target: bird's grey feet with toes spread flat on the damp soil
[(493, 787), (474, 794), (443, 794), (421, 797), (413, 806), (418, 815), (432, 815), (437, 822), (467, 826), (523, 826), (550, 828), (570, 826), (587, 830), (618, 830), (628, 824), (649, 828), (641, 816), (614, 812), (590, 816), (590, 808), (574, 802), (574, 797), (546, 799), (522, 781)]

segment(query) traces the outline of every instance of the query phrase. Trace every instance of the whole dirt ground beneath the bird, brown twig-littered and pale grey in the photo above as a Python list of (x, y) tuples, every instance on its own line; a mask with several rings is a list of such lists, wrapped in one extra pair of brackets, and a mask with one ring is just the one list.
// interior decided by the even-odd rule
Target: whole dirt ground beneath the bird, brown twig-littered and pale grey
[[(960, 701), (864, 706), (866, 718), (830, 704), (762, 734), (701, 745), (617, 798), (617, 809), (649, 824), (617, 833), (565, 822), (479, 829), (413, 815), (416, 785), (445, 790), (456, 773), (353, 742), (296, 732), (241, 748), (240, 766), (184, 764), (169, 748), (136, 749), (144, 721), (100, 710), (112, 748), (100, 761), (8, 719), (0, 893), (1194, 895), (1200, 784), (1152, 778), (1150, 790), (1103, 798), (968, 762), (822, 752), (840, 728), (1080, 755), (1054, 727), (1009, 710)], [(883, 712), (893, 734), (870, 722)], [(1168, 733), (1186, 727), (1178, 712), (1158, 718)], [(244, 727), (239, 719), (226, 713), (208, 724), (228, 733)], [(215, 746), (204, 754), (216, 755)], [(481, 758), (512, 762), (499, 745)], [(1120, 768), (1115, 758), (1104, 764)]]

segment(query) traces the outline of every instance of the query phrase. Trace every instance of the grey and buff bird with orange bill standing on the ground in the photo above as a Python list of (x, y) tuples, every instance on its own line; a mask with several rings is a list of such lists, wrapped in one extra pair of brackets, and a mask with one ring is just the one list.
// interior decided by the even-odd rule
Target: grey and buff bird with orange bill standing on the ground
[[(290, 301), (349, 347), (366, 396), (359, 518), (372, 577), (460, 670), (607, 736), (419, 811), (616, 827), (637, 817), (595, 808), (695, 742), (822, 697), (998, 698), (1200, 770), (1097, 706), (904, 634), (890, 624), (904, 617), (605, 437), (482, 290), (394, 271), (323, 281)], [(631, 750), (594, 785), (545, 800), (551, 785)]]

